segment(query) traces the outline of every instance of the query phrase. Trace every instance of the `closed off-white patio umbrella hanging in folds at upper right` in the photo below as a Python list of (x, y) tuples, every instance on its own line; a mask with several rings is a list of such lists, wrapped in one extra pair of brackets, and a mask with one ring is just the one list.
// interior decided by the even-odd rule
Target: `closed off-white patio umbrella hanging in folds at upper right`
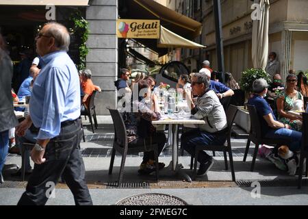
[[(268, 22), (270, 0), (260, 0), (261, 16), (253, 21), (253, 67), (266, 68), (268, 62)], [(257, 8), (259, 10), (259, 8)], [(260, 12), (257, 12), (260, 13)]]

